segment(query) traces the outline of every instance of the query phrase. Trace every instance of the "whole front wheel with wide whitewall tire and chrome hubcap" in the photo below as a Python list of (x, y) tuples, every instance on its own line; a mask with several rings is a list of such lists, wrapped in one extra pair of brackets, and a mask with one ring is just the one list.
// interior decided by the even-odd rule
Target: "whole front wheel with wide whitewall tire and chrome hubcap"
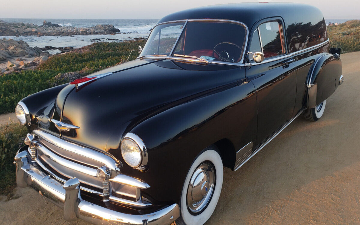
[(220, 197), (224, 169), (217, 148), (208, 147), (190, 167), (181, 192), (180, 219), (186, 225), (204, 224)]

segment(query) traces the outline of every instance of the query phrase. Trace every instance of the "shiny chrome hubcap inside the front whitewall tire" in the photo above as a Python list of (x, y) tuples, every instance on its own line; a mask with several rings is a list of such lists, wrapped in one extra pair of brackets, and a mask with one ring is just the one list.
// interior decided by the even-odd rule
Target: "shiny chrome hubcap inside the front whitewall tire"
[(200, 213), (210, 202), (215, 185), (215, 169), (212, 163), (198, 166), (190, 179), (187, 204), (190, 212)]

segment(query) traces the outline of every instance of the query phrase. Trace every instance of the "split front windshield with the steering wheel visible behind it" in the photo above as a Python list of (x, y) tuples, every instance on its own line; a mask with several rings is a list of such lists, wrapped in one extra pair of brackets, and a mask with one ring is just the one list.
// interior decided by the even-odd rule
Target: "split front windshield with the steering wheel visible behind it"
[(244, 26), (216, 21), (189, 21), (184, 25), (185, 22), (176, 22), (154, 27), (140, 57), (192, 56), (231, 63), (241, 60), (246, 37)]

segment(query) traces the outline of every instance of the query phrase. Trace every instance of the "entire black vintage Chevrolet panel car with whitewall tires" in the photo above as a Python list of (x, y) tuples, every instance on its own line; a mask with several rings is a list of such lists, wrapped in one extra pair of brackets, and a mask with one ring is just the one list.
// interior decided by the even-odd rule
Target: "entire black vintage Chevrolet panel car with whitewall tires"
[(68, 221), (204, 224), (223, 167), (237, 170), (300, 114), (319, 120), (343, 82), (322, 13), (303, 4), (174, 13), (140, 50), (15, 109), (29, 131), (17, 185)]

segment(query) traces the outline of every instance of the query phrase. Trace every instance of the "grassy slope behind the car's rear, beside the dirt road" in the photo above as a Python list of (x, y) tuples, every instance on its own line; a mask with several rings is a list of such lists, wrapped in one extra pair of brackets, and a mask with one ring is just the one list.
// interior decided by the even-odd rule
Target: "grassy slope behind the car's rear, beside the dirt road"
[(330, 47), (341, 48), (341, 53), (360, 51), (360, 20), (328, 26), (328, 34)]

